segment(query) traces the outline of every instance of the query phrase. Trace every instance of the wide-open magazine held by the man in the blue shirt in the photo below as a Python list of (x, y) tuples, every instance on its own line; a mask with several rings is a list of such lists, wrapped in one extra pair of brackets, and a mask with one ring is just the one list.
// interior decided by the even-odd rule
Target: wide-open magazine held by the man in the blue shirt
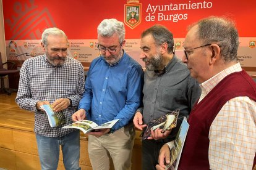
[(62, 128), (75, 128), (75, 129), (80, 129), (83, 133), (91, 132), (91, 131), (96, 131), (97, 129), (108, 129), (114, 126), (114, 124), (117, 123), (119, 119), (114, 119), (112, 121), (108, 121), (106, 123), (103, 123), (101, 125), (98, 125), (94, 123), (93, 121), (89, 120), (80, 120), (76, 121), (75, 123), (69, 124), (67, 126), (64, 126)]

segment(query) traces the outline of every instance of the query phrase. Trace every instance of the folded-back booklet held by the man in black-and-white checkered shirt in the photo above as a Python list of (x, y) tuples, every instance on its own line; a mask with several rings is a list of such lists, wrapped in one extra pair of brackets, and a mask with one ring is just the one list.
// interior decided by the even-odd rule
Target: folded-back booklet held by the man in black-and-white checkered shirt
[(66, 117), (62, 111), (53, 111), (51, 105), (41, 105), (40, 108), (45, 110), (51, 127), (61, 126), (66, 123)]

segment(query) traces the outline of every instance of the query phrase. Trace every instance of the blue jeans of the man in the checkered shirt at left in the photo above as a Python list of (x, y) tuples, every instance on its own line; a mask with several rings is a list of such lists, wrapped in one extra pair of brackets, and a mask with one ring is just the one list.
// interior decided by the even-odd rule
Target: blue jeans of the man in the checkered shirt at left
[(59, 145), (62, 148), (65, 169), (81, 169), (79, 167), (80, 131), (62, 137), (44, 137), (36, 134), (36, 142), (42, 170), (57, 169)]

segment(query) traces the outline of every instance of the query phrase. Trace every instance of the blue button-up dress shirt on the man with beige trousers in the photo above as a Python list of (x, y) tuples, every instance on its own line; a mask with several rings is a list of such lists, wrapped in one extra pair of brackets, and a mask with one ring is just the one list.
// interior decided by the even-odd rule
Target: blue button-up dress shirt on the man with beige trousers
[(99, 125), (120, 119), (111, 129), (116, 131), (133, 118), (140, 105), (142, 87), (142, 67), (126, 52), (114, 65), (100, 56), (90, 65), (79, 109), (86, 110), (87, 119)]

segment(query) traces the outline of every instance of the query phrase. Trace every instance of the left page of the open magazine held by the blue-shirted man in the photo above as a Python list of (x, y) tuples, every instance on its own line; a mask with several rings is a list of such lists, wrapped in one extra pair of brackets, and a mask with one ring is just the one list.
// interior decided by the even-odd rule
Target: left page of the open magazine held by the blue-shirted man
[(92, 131), (93, 127), (98, 126), (98, 124), (94, 123), (93, 121), (89, 120), (80, 120), (76, 121), (75, 123), (68, 124), (67, 126), (64, 126), (62, 128), (75, 128), (80, 129), (83, 133), (87, 133)]

